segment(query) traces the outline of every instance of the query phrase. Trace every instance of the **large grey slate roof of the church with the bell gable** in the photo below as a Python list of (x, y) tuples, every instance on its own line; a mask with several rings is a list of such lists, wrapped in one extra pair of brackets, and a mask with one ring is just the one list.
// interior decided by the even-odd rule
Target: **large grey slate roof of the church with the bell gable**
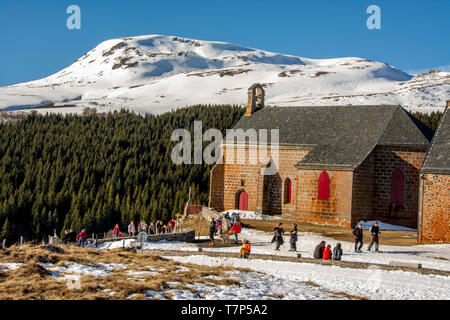
[(235, 129), (279, 129), (280, 145), (311, 146), (298, 167), (355, 168), (378, 144), (427, 147), (430, 131), (411, 117), (395, 105), (266, 106), (243, 116)]

